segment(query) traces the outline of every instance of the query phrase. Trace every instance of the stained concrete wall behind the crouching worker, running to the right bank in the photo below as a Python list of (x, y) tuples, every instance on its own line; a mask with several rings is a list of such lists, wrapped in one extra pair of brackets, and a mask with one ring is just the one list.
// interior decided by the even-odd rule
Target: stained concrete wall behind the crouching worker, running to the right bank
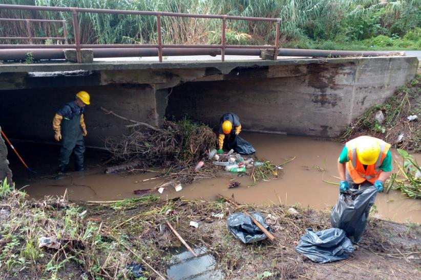
[(187, 114), (216, 127), (232, 111), (244, 130), (335, 137), (409, 82), (416, 67), (413, 60), (391, 57), (234, 69), (222, 81), (175, 87), (167, 115)]

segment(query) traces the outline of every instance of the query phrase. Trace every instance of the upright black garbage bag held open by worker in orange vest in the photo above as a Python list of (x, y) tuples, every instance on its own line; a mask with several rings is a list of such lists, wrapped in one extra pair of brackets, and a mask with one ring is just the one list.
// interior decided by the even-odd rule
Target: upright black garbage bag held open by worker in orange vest
[(352, 243), (360, 242), (367, 225), (370, 201), (376, 194), (375, 186), (361, 190), (350, 189), (346, 193), (340, 193), (330, 215), (332, 227), (345, 230), (346, 236)]

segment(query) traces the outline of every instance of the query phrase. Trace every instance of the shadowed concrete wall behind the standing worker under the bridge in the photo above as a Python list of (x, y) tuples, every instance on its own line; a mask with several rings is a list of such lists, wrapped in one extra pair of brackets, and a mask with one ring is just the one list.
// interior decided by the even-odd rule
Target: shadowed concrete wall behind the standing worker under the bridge
[[(72, 101), (79, 90), (91, 95), (91, 105), (86, 107), (85, 113), (87, 145), (103, 147), (107, 136), (129, 132), (125, 125), (130, 122), (105, 114), (101, 106), (132, 120), (153, 125), (157, 122), (155, 90), (150, 85), (131, 84), (1, 91), (9, 98), (0, 103), (0, 122), (9, 137), (53, 141), (54, 114), (61, 105)], [(162, 111), (159, 106), (158, 109)]]

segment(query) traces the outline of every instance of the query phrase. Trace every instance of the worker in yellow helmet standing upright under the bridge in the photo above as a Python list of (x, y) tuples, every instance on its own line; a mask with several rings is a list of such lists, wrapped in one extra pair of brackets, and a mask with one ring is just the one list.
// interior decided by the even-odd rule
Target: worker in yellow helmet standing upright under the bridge
[(61, 141), (60, 156), (58, 158), (59, 174), (64, 173), (69, 164), (72, 152), (75, 155), (76, 171), (85, 170), (85, 141), (83, 137), (88, 134), (83, 113), (85, 106), (90, 104), (90, 96), (86, 91), (79, 91), (74, 101), (58, 109), (53, 119), (54, 138)]

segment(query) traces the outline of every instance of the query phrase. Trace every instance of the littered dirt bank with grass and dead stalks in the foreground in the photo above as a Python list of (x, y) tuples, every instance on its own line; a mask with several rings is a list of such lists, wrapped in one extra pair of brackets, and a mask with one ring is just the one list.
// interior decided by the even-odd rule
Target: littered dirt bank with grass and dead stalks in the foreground
[[(157, 278), (148, 263), (165, 275), (171, 255), (180, 246), (167, 228), (169, 221), (193, 247), (204, 247), (226, 279), (373, 279), (421, 277), (421, 228), (415, 224), (370, 219), (361, 247), (349, 259), (314, 264), (294, 251), (294, 242), (306, 228), (330, 227), (329, 213), (294, 205), (297, 216), (283, 205), (239, 205), (215, 202), (160, 200), (155, 196), (107, 205), (72, 204), (66, 199), (27, 200), (12, 193), (2, 206), (1, 275), (24, 278), (128, 278), (132, 261), (146, 268), (145, 277)], [(79, 205), (79, 206), (77, 206)], [(272, 216), (268, 223), (276, 240), (244, 245), (226, 227), (226, 217), (242, 211)], [(222, 219), (212, 213), (223, 213)], [(196, 229), (190, 221), (199, 223)], [(56, 238), (53, 248), (38, 248), (40, 237)]]

